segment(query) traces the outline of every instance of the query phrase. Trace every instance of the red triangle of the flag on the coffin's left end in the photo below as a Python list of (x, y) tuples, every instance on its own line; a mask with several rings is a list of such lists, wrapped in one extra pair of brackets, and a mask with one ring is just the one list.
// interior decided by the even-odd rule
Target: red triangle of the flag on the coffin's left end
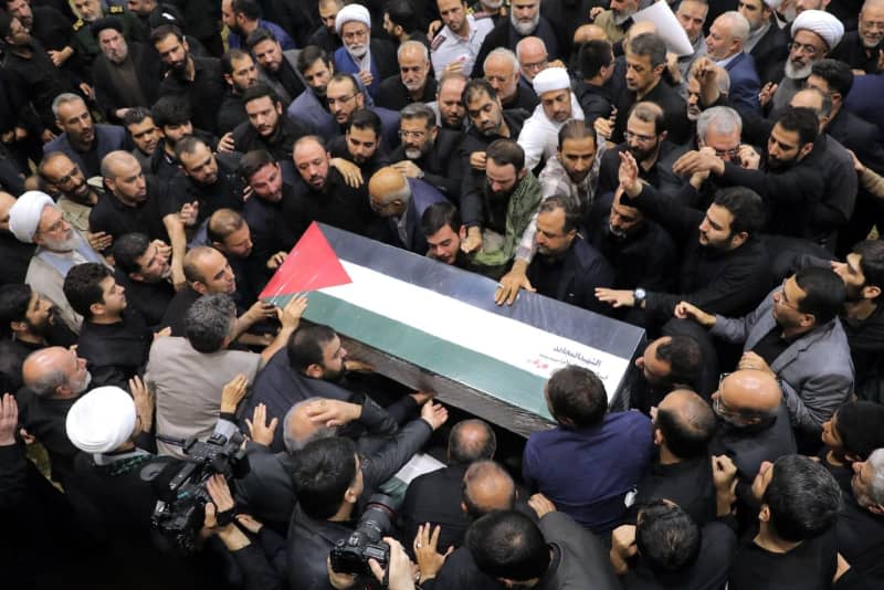
[(269, 299), (352, 283), (314, 221), (259, 295)]

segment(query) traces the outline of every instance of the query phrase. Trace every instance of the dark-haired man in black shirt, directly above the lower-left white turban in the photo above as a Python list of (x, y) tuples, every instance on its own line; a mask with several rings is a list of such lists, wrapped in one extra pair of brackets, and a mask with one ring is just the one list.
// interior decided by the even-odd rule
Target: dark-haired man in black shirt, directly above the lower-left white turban
[(64, 277), (64, 296), (83, 316), (77, 354), (95, 387), (126, 387), (147, 361), (152, 335), (140, 314), (126, 312), (125, 291), (103, 264), (77, 264)]

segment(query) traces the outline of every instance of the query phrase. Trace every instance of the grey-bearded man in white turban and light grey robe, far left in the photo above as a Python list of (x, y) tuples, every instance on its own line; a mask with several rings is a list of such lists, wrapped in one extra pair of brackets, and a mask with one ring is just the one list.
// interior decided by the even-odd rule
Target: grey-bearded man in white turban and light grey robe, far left
[(69, 328), (80, 331), (83, 318), (64, 296), (64, 277), (83, 262), (107, 264), (73, 226), (45, 192), (28, 191), (9, 210), (9, 231), (20, 242), (38, 245), (24, 282), (55, 304)]

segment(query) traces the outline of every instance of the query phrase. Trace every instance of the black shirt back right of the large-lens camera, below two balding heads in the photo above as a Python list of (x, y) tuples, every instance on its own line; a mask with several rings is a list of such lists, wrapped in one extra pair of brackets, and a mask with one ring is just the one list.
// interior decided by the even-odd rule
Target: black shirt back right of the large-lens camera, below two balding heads
[(418, 527), (432, 523), (440, 525), (438, 550), (445, 554), (449, 547), (463, 545), (471, 519), (461, 508), (463, 476), (469, 465), (449, 467), (415, 477), (408, 486), (406, 498), (399, 508), (399, 538), (404, 547), (418, 534)]

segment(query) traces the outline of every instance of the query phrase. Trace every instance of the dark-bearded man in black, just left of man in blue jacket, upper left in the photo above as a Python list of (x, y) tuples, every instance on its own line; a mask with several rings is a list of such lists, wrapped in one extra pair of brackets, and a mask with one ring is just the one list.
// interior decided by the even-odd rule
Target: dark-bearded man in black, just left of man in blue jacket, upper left
[(233, 130), (236, 151), (266, 149), (280, 161), (292, 158), (292, 145), (307, 135), (307, 128), (285, 114), (280, 97), (266, 84), (255, 84), (242, 96), (249, 120)]

